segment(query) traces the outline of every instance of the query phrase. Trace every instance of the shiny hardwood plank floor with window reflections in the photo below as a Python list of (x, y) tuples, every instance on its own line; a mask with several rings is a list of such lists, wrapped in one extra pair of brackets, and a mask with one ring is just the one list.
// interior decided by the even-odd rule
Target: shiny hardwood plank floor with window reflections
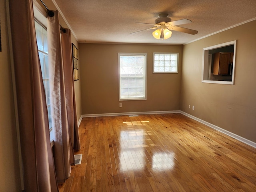
[(60, 192), (254, 192), (256, 149), (182, 114), (83, 118)]

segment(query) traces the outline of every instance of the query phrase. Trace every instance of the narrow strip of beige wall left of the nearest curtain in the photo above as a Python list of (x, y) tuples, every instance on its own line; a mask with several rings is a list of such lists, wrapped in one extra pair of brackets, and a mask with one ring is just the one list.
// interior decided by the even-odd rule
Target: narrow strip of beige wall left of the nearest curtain
[(0, 191), (21, 191), (5, 1), (0, 1)]

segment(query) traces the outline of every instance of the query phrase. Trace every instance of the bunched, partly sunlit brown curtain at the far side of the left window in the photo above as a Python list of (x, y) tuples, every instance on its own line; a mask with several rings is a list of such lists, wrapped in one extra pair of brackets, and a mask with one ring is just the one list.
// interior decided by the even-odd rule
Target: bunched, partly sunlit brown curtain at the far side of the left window
[(77, 119), (74, 119), (76, 118), (76, 108), (74, 105), (70, 31), (62, 30), (62, 40), (60, 39), (58, 11), (53, 12), (54, 16), (47, 18), (47, 39), (54, 162), (58, 182), (65, 182), (65, 179), (70, 176), (71, 165), (74, 165), (73, 146), (75, 145), (79, 149), (80, 142), (76, 128)]

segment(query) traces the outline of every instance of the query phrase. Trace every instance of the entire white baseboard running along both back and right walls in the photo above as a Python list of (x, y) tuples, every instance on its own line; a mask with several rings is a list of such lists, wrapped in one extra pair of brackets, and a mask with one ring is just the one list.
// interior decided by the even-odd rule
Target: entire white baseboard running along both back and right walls
[(247, 144), (249, 146), (252, 146), (253, 148), (256, 148), (256, 143), (255, 142), (250, 141), (250, 140), (248, 140), (246, 138), (243, 138), (243, 137), (241, 137), (239, 135), (236, 135), (236, 134), (234, 134), (232, 132), (229, 132), (229, 131), (227, 131), (225, 129), (222, 129), (222, 128), (214, 125), (214, 124), (208, 123), (208, 122), (206, 122), (206, 121), (204, 121), (202, 119), (199, 119), (199, 118), (197, 118), (195, 116), (192, 116), (192, 115), (190, 115), (188, 113), (185, 113), (183, 111), (180, 111), (180, 110), (175, 110), (175, 111), (150, 111), (150, 112), (86, 114), (86, 115), (82, 115), (80, 117), (79, 125), (80, 125), (80, 122), (81, 122), (82, 118), (84, 118), (84, 117), (103, 117), (103, 116), (120, 116), (120, 115), (145, 115), (145, 114), (168, 114), (168, 113), (181, 113), (181, 114), (183, 114), (183, 115), (185, 115), (185, 116), (187, 116), (189, 118), (192, 118), (192, 119), (194, 119), (194, 120), (196, 120), (196, 121), (198, 121), (198, 122), (200, 122), (202, 124), (205, 124), (205, 125), (209, 126), (210, 128), (213, 128), (213, 129), (215, 129), (215, 130), (217, 130), (219, 132), (222, 132), (222, 133), (224, 133), (224, 134), (226, 134), (226, 135), (228, 135), (228, 136), (230, 136), (230, 137), (232, 137), (232, 138), (234, 138), (234, 139), (236, 139), (236, 140), (238, 140), (240, 142), (243, 142), (243, 143), (245, 143), (245, 144)]

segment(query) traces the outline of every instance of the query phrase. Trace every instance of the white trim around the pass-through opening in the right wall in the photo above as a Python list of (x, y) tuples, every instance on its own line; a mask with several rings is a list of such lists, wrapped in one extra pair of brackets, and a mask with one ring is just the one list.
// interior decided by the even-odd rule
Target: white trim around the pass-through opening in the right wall
[[(209, 73), (209, 62), (208, 62), (208, 55), (209, 50), (217, 49), (229, 45), (234, 45), (234, 56), (233, 56), (233, 68), (232, 68), (232, 81), (214, 81), (214, 80), (204, 80), (206, 74)], [(203, 60), (202, 60), (202, 83), (214, 83), (214, 84), (228, 84), (234, 85), (234, 77), (235, 77), (235, 63), (236, 63), (236, 40), (210, 46), (203, 48)]]

